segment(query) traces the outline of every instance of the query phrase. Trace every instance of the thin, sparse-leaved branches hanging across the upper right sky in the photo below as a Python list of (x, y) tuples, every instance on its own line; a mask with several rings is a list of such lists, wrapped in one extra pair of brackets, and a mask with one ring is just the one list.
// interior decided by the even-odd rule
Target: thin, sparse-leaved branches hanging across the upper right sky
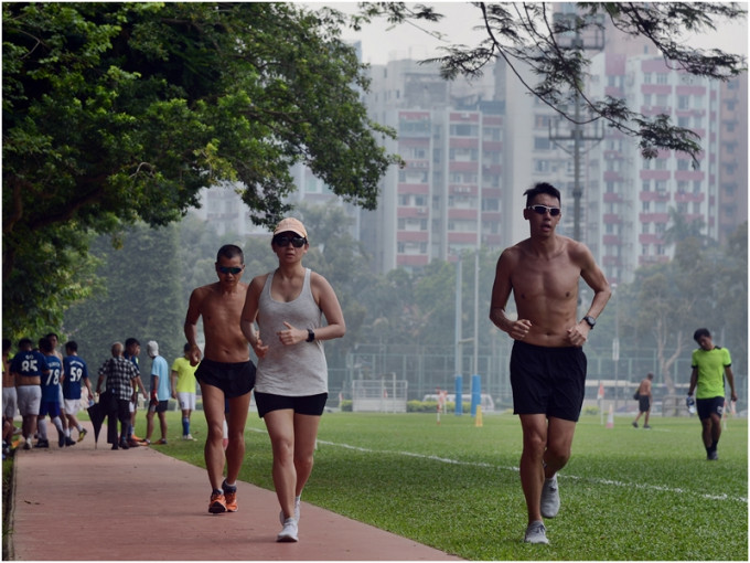
[[(645, 158), (656, 157), (658, 149), (686, 152), (697, 166), (701, 147), (690, 129), (673, 125), (667, 115), (646, 116), (630, 107), (624, 98), (589, 98), (586, 78), (590, 52), (586, 41), (574, 38), (601, 35), (610, 29), (629, 38), (643, 38), (662, 53), (667, 66), (689, 74), (726, 81), (747, 71), (743, 56), (718, 49), (701, 50), (687, 39), (690, 34), (716, 29), (721, 20), (746, 18), (737, 2), (577, 2), (575, 14), (562, 14), (550, 2), (471, 2), (478, 10), (482, 39), (475, 45), (451, 45), (444, 55), (424, 61), (438, 62), (446, 78), (479, 77), (488, 64), (502, 59), (523, 86), (542, 103), (569, 121), (585, 125), (603, 120), (610, 127), (636, 138)], [(385, 17), (392, 24), (437, 22), (442, 19), (440, 4), (404, 2), (363, 3), (365, 21)], [(562, 17), (560, 17), (562, 15)], [(450, 41), (450, 36), (442, 38)], [(526, 83), (523, 70), (538, 76), (537, 84)], [(577, 117), (570, 100), (583, 102), (583, 115)], [(566, 105), (568, 108), (566, 108)]]

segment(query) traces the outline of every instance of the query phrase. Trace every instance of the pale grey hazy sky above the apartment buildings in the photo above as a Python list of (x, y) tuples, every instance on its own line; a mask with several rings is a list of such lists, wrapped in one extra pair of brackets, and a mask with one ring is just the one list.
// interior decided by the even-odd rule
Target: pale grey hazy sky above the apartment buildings
[[(320, 2), (304, 3), (311, 7), (314, 7), (315, 3), (320, 4)], [(388, 30), (385, 22), (368, 25), (360, 33), (345, 31), (344, 39), (362, 41), (363, 62), (371, 64), (385, 64), (393, 59), (426, 59), (436, 56), (439, 53), (437, 51), (438, 46), (456, 43), (474, 45), (479, 42), (475, 38), (483, 39), (481, 31), (473, 30), (473, 28), (481, 23), (481, 12), (478, 8), (468, 2), (425, 1), (424, 3), (433, 6), (437, 11), (446, 14), (446, 18), (439, 25), (432, 25), (429, 29), (435, 28), (447, 34), (450, 41), (440, 42), (408, 24), (401, 24)], [(326, 2), (326, 6), (344, 12), (356, 11), (356, 2)], [(428, 24), (424, 25), (427, 28)], [(704, 49), (718, 47), (730, 53), (744, 54), (747, 56), (747, 19), (740, 23), (722, 25), (720, 32), (715, 33), (710, 38), (696, 38), (695, 44)]]

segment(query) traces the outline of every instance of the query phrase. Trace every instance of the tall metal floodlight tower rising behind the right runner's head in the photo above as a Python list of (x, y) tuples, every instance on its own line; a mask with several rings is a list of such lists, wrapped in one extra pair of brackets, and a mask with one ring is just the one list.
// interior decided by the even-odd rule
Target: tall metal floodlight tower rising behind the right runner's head
[[(571, 49), (575, 51), (583, 52), (587, 49), (590, 50), (596, 50), (596, 51), (601, 51), (604, 49), (604, 31), (603, 28), (599, 28), (594, 25), (597, 30), (600, 30), (601, 33), (597, 32), (594, 33), (591, 42), (586, 43), (583, 41), (583, 38), (581, 36), (580, 32), (580, 21), (579, 15), (575, 13), (555, 13), (554, 15), (554, 21), (556, 23), (561, 23), (566, 22), (568, 26), (572, 24), (575, 28), (574, 30), (574, 36), (570, 40), (570, 45), (566, 46), (565, 49)], [(600, 24), (603, 23), (603, 18), (597, 17), (596, 23)], [(568, 33), (568, 32), (566, 32)], [(581, 231), (580, 231), (580, 221), (581, 221), (581, 196), (583, 194), (583, 189), (581, 187), (581, 164), (580, 164), (580, 156), (581, 156), (581, 144), (582, 141), (587, 140), (596, 140), (596, 141), (601, 141), (601, 139), (604, 138), (603, 131), (600, 130), (599, 128), (599, 121), (594, 121), (593, 124), (593, 132), (587, 134), (583, 130), (583, 127), (581, 125), (581, 99), (580, 99), (580, 94), (578, 91), (574, 92), (574, 124), (572, 128), (567, 131), (567, 132), (560, 132), (559, 131), (559, 126), (560, 123), (564, 119), (558, 117), (556, 119), (550, 119), (549, 121), (549, 140), (555, 142), (558, 147), (560, 147), (562, 150), (565, 150), (568, 155), (570, 155), (570, 150), (568, 150), (566, 147), (556, 142), (556, 141), (564, 141), (564, 140), (571, 140), (574, 144), (574, 149), (572, 149), (572, 158), (574, 158), (574, 188), (572, 188), (572, 199), (574, 199), (574, 238), (576, 241), (581, 240)], [(554, 131), (553, 131), (553, 125), (554, 125)]]

